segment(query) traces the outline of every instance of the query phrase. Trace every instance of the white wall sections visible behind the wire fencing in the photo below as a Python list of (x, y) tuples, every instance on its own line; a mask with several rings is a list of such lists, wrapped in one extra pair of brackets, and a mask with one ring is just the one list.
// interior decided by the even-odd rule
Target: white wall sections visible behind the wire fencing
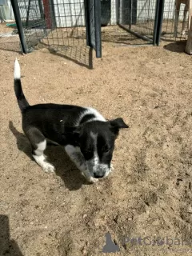
[[(11, 8), (10, 0), (6, 0), (9, 6), (9, 12), (7, 19), (14, 19), (14, 13)], [(120, 22), (122, 18), (123, 5), (120, 0)], [(58, 27), (70, 27), (70, 26), (85, 26), (85, 11), (84, 11), (84, 0), (65, 0), (65, 8), (63, 8), (63, 0), (54, 0), (54, 13), (56, 16), (56, 24)], [(21, 8), (22, 17), (26, 18), (26, 2), (23, 1), (23, 7)], [(146, 18), (154, 19), (155, 14), (155, 0), (138, 0), (138, 11), (137, 20), (139, 22), (145, 22)], [(22, 2), (20, 3), (22, 6)], [(40, 17), (40, 11), (36, 7), (37, 0), (31, 1), (30, 15), (35, 18)], [(185, 5), (181, 5), (180, 16), (183, 18), (183, 10)], [(60, 18), (59, 18), (60, 16)], [(174, 18), (174, 0), (166, 0), (164, 8), (164, 18)], [(115, 25), (118, 22), (118, 0), (111, 0), (111, 19), (110, 24)]]

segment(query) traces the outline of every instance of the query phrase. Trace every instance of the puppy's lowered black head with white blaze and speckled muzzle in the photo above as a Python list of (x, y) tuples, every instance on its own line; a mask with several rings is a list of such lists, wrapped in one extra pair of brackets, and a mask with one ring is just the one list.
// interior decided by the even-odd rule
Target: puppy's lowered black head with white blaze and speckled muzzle
[(122, 118), (86, 122), (74, 128), (74, 137), (92, 177), (104, 178), (110, 173), (114, 142), (122, 128), (128, 128)]

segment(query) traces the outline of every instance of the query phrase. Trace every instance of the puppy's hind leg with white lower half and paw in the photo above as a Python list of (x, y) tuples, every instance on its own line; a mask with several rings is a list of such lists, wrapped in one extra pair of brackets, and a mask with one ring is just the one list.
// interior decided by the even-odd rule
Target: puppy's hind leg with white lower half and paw
[(44, 150), (46, 150), (46, 138), (41, 131), (36, 127), (30, 127), (26, 132), (26, 137), (30, 140), (35, 162), (37, 162), (46, 173), (54, 173), (54, 166), (46, 162), (46, 156), (43, 154)]

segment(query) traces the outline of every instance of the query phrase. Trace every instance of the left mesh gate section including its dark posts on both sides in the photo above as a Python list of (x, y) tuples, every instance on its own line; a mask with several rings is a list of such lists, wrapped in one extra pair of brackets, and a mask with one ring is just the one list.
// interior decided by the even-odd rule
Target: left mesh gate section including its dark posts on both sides
[(24, 53), (39, 42), (53, 50), (82, 51), (102, 57), (100, 0), (11, 0)]

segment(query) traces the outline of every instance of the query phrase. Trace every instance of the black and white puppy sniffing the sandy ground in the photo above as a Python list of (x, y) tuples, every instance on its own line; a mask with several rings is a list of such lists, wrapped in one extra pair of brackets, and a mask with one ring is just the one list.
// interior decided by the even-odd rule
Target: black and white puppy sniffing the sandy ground
[(122, 118), (106, 121), (89, 107), (38, 104), (30, 106), (22, 91), (20, 66), (14, 62), (14, 91), (22, 112), (22, 129), (32, 146), (34, 160), (46, 172), (54, 166), (43, 154), (46, 142), (65, 147), (66, 153), (89, 182), (110, 174), (114, 141), (121, 128), (128, 128)]

